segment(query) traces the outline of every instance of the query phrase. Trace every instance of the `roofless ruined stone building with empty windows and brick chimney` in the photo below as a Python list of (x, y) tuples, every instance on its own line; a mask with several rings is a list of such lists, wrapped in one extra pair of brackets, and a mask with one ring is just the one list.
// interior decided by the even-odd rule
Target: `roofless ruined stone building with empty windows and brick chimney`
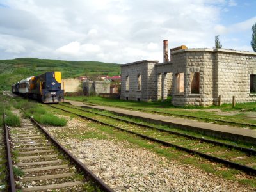
[(164, 100), (176, 106), (256, 102), (256, 53), (228, 49), (171, 49), (164, 63), (143, 60), (121, 66), (120, 99)]

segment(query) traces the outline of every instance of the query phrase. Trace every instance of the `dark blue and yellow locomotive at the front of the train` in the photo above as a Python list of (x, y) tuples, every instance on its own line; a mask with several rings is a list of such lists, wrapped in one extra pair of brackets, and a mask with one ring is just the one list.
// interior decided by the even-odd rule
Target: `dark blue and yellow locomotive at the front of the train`
[(28, 97), (44, 103), (64, 102), (64, 90), (61, 90), (61, 72), (46, 72), (29, 79)]

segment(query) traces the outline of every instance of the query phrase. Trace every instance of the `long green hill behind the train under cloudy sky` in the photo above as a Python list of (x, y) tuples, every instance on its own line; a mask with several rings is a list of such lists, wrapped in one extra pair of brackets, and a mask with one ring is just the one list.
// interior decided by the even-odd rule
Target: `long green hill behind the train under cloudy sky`
[(36, 58), (0, 60), (0, 90), (10, 90), (10, 86), (21, 79), (49, 71), (60, 71), (62, 78), (96, 75), (118, 75), (120, 65), (96, 61), (61, 61)]

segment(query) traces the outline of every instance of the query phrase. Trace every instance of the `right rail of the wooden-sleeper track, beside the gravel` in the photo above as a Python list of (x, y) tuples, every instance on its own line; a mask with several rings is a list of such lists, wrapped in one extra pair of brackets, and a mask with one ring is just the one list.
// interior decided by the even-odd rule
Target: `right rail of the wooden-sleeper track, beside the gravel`
[[(22, 111), (24, 111), (22, 109)], [(106, 192), (114, 192), (113, 189), (109, 188), (109, 186), (107, 186), (102, 180), (99, 179), (99, 177), (97, 177), (91, 170), (89, 170), (88, 168), (86, 168), (86, 166), (84, 166), (83, 163), (81, 163), (76, 157), (74, 157), (65, 147), (63, 147), (63, 145), (61, 145), (54, 137), (51, 136), (51, 134), (44, 129), (44, 127), (42, 127), (42, 125), (40, 125), (38, 122), (36, 122), (36, 120), (34, 118), (32, 118), (30, 116), (30, 119), (32, 120), (32, 122), (39, 127), (44, 134), (47, 136), (47, 138), (49, 138), (61, 151), (64, 152), (65, 155), (67, 155), (67, 157), (69, 159), (71, 159), (71, 161), (76, 164), (86, 175), (86, 177), (90, 180), (92, 180), (97, 186), (99, 186), (100, 189), (102, 189), (103, 191)]]

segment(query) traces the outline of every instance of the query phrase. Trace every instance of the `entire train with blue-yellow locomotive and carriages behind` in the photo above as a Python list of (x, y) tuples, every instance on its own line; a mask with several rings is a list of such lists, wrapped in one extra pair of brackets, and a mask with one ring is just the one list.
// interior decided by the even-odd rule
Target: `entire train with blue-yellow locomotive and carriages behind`
[(46, 72), (31, 76), (12, 85), (12, 93), (24, 95), (43, 103), (64, 102), (64, 90), (61, 90), (61, 72)]

